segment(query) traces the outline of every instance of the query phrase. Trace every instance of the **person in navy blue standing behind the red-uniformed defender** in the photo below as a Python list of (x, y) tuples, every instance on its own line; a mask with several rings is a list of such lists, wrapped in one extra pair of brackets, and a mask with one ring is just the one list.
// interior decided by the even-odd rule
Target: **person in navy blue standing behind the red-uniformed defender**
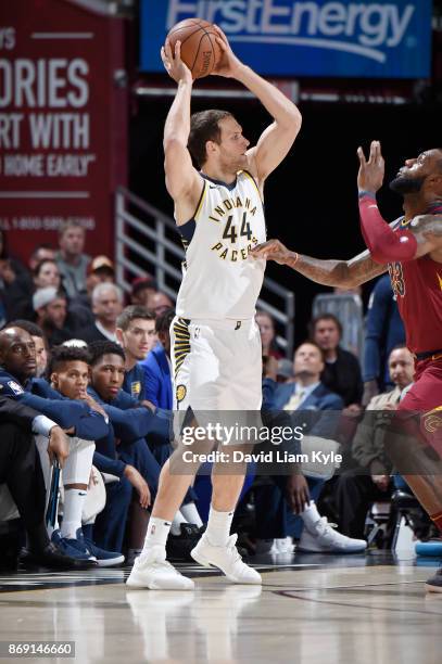
[(391, 288), (384, 274), (375, 284), (368, 303), (364, 345), (364, 397), (369, 400), (391, 387), (389, 361), (392, 348), (405, 341), (405, 330)]

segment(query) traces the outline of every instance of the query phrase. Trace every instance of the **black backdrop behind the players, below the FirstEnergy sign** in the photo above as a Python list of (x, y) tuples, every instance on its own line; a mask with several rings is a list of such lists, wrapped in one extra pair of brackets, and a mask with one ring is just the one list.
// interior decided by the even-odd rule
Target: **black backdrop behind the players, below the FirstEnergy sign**
[[(164, 186), (162, 132), (172, 98), (138, 98), (130, 122), (130, 189), (173, 214)], [(256, 142), (270, 118), (254, 101), (194, 99), (192, 111), (220, 107)], [(441, 107), (433, 105), (315, 104), (300, 105), (301, 132), (285, 162), (265, 188), (267, 230), (290, 248), (320, 258), (351, 258), (364, 251), (358, 227), (356, 149), (380, 140), (386, 157), (386, 182), (407, 157), (442, 146)], [(402, 214), (401, 199), (383, 187), (378, 201), (387, 220)], [(328, 289), (287, 267), (269, 264), (267, 274), (295, 293), (295, 339), (305, 339), (313, 297)], [(372, 284), (364, 286), (367, 301)]]

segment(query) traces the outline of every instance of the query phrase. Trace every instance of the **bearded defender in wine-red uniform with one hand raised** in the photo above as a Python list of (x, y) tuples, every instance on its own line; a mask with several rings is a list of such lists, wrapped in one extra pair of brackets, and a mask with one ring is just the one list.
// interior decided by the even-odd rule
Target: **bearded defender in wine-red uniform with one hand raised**
[[(404, 196), (405, 213), (390, 226), (376, 204), (384, 174), (380, 143), (371, 142), (368, 162), (361, 148), (358, 157), (361, 229), (368, 252), (351, 260), (318, 260), (270, 240), (252, 255), (289, 265), (329, 286), (354, 288), (390, 271), (406, 343), (415, 357), (415, 382), (401, 401), (395, 421), (406, 424), (403, 431), (412, 443), (425, 438), (442, 457), (442, 150), (406, 159), (390, 182), (390, 188)], [(432, 464), (428, 457), (425, 470), (416, 467), (406, 481), (442, 533), (440, 460)], [(427, 589), (442, 592), (442, 569), (427, 582)]]

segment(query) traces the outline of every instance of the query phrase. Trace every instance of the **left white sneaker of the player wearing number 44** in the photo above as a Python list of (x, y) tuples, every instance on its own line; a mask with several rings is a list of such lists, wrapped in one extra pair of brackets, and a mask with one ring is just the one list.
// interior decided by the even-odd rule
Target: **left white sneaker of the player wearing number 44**
[(154, 546), (135, 559), (126, 584), (130, 588), (149, 588), (150, 590), (194, 589), (192, 579), (182, 576), (166, 561), (166, 551), (162, 546)]

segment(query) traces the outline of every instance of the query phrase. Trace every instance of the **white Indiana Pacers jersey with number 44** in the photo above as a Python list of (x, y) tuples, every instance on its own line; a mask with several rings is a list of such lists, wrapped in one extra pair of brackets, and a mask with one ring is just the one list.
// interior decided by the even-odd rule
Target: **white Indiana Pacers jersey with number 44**
[(232, 184), (203, 178), (193, 219), (178, 228), (186, 263), (177, 316), (253, 318), (265, 270), (265, 260), (249, 258), (250, 251), (266, 239), (260, 191), (245, 170)]

